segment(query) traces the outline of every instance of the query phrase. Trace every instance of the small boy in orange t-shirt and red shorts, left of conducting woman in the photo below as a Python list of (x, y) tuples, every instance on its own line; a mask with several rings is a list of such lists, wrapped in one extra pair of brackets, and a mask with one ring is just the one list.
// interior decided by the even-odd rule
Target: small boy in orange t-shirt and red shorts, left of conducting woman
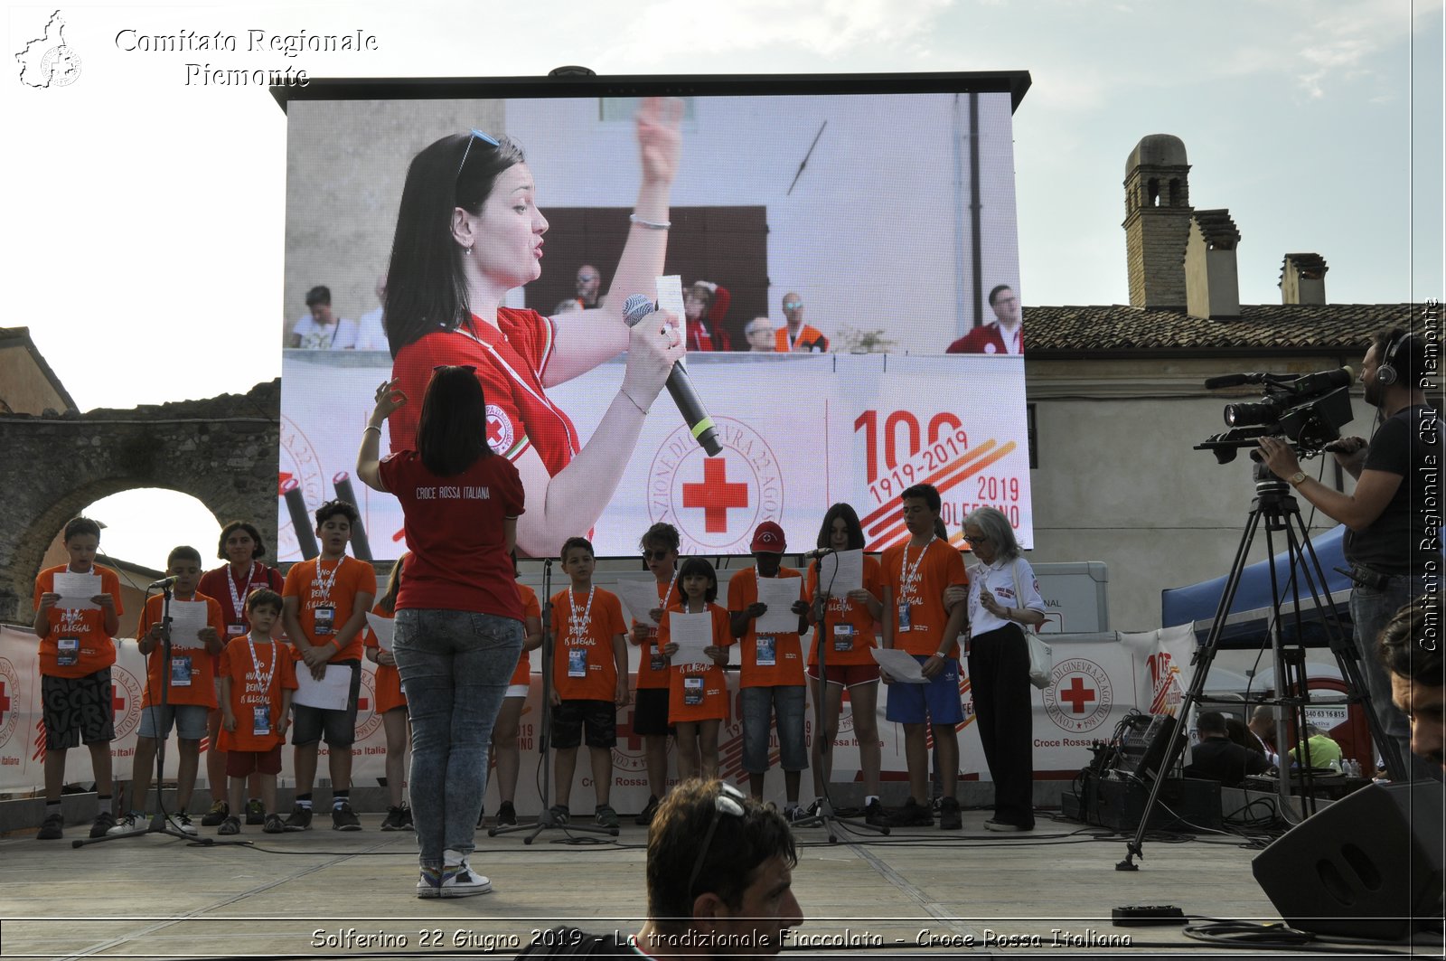
[(281, 745), (286, 741), (291, 698), (296, 690), (295, 660), (279, 641), (272, 640), (282, 612), (282, 598), (262, 588), (246, 599), (250, 632), (231, 638), (221, 651), (221, 750), (230, 777), (231, 813), (217, 834), (240, 834), (241, 800), (246, 779), (260, 773), (262, 803), (266, 821), (262, 831), (286, 829), (276, 810), (276, 774), (281, 773)]

